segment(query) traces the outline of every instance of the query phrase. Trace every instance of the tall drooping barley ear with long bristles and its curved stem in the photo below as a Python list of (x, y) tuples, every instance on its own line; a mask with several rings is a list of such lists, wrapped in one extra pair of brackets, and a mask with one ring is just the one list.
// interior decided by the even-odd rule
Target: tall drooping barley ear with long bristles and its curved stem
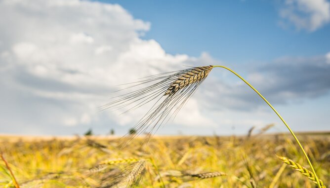
[[(278, 115), (278, 117), (282, 120), (282, 122), (286, 125), (289, 132), (293, 136), (295, 142), (298, 144), (300, 150), (303, 152), (312, 173), (315, 177), (317, 185), (321, 188), (320, 181), (318, 176), (314, 170), (314, 167), (300, 144), (298, 138), (295, 136), (294, 132), (291, 130), (287, 122), (283, 119), (283, 117), (275, 110), (275, 108), (250, 84), (247, 80), (245, 80), (242, 76), (234, 72), (233, 70), (225, 67), (225, 66), (204, 66), (204, 67), (193, 67), (186, 70), (178, 71), (178, 72), (171, 72), (171, 73), (164, 73), (156, 76), (152, 76), (146, 80), (142, 80), (138, 82), (137, 85), (146, 84), (153, 81), (158, 81), (157, 83), (152, 84), (151, 86), (138, 89), (134, 92), (129, 92), (127, 95), (121, 95), (121, 99), (115, 100), (112, 103), (109, 103), (104, 106), (105, 109), (107, 108), (114, 108), (120, 106), (120, 108), (127, 107), (131, 104), (134, 104), (126, 112), (133, 110), (134, 108), (141, 107), (149, 102), (152, 102), (155, 98), (161, 96), (157, 100), (154, 106), (141, 118), (141, 120), (135, 125), (134, 128), (137, 129), (138, 133), (148, 130), (148, 132), (153, 133), (156, 127), (159, 127), (166, 121), (166, 118), (170, 113), (175, 114), (182, 108), (182, 106), (188, 101), (188, 99), (194, 94), (198, 86), (206, 79), (207, 75), (213, 68), (223, 68), (234, 75), (238, 76), (242, 79), (252, 90), (254, 90), (266, 103), (267, 105)], [(136, 85), (135, 85), (136, 86)], [(134, 87), (134, 86), (132, 86)], [(160, 100), (163, 99), (162, 94), (167, 96), (161, 103), (158, 104)], [(142, 102), (140, 102), (142, 100)], [(135, 105), (135, 103), (137, 103)], [(171, 116), (169, 118), (171, 118)], [(175, 116), (174, 115), (174, 116)], [(158, 129), (158, 128), (157, 128)], [(156, 129), (156, 130), (157, 130)]]

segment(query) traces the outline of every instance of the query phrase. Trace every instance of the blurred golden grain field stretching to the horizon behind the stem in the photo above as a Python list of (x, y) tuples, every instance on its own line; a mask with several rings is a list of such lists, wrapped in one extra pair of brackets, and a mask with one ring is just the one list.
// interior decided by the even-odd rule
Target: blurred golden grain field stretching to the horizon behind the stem
[[(299, 138), (329, 187), (329, 134)], [(277, 157), (289, 157), (308, 168), (289, 135), (154, 137), (148, 143), (140, 137), (121, 149), (123, 141), (2, 136), (0, 186), (14, 188), (14, 176), (20, 188), (316, 187)]]

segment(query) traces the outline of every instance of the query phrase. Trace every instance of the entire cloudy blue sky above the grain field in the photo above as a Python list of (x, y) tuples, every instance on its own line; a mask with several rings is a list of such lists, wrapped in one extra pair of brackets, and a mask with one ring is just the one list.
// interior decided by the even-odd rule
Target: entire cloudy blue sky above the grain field
[[(123, 135), (120, 84), (185, 66), (245, 77), (293, 131), (330, 130), (329, 0), (0, 0), (0, 134)], [(160, 135), (241, 135), (280, 119), (213, 69)]]

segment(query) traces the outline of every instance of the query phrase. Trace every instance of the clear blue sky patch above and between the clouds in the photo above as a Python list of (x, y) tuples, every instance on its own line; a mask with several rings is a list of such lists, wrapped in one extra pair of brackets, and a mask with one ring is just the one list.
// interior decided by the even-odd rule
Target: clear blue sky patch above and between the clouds
[[(272, 61), (281, 56), (323, 55), (330, 51), (330, 25), (310, 32), (280, 25), (282, 5), (268, 0), (131, 1), (119, 3), (151, 23), (143, 38), (156, 39), (167, 53), (212, 57), (232, 63)], [(283, 21), (283, 20), (282, 20)]]

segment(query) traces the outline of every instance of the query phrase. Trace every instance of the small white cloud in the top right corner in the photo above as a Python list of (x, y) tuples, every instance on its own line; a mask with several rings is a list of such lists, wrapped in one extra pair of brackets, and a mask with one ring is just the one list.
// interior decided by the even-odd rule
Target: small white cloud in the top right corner
[(330, 21), (327, 0), (285, 0), (280, 16), (298, 30), (315, 31)]

